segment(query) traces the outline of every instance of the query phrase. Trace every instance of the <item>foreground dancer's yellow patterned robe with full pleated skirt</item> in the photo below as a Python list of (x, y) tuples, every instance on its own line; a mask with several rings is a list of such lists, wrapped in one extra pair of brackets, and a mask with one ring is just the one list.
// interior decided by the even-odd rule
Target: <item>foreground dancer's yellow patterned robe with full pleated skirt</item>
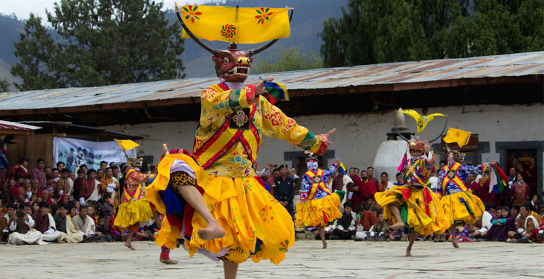
[[(206, 222), (196, 212), (183, 220), (190, 218), (191, 232), (170, 225), (174, 221), (167, 217), (156, 236), (159, 246), (173, 249), (183, 243), (190, 256), (198, 251), (236, 263), (251, 258), (253, 262), (270, 259), (279, 264), (284, 259), (294, 243), (294, 223), (285, 207), (254, 177), (262, 135), (287, 140), (310, 152), (326, 150), (320, 137), (297, 125), (266, 98), (256, 98), (255, 86), (229, 90), (225, 84), (216, 84), (202, 91), (192, 158), (165, 156), (158, 176), (146, 187), (146, 198), (160, 213), (176, 214), (165, 205), (171, 199), (163, 201), (160, 193), (168, 190), (172, 163), (181, 160), (194, 171), (204, 202), (226, 234), (220, 239), (199, 239), (196, 232), (206, 227)], [(183, 216), (178, 214), (177, 218)]]

